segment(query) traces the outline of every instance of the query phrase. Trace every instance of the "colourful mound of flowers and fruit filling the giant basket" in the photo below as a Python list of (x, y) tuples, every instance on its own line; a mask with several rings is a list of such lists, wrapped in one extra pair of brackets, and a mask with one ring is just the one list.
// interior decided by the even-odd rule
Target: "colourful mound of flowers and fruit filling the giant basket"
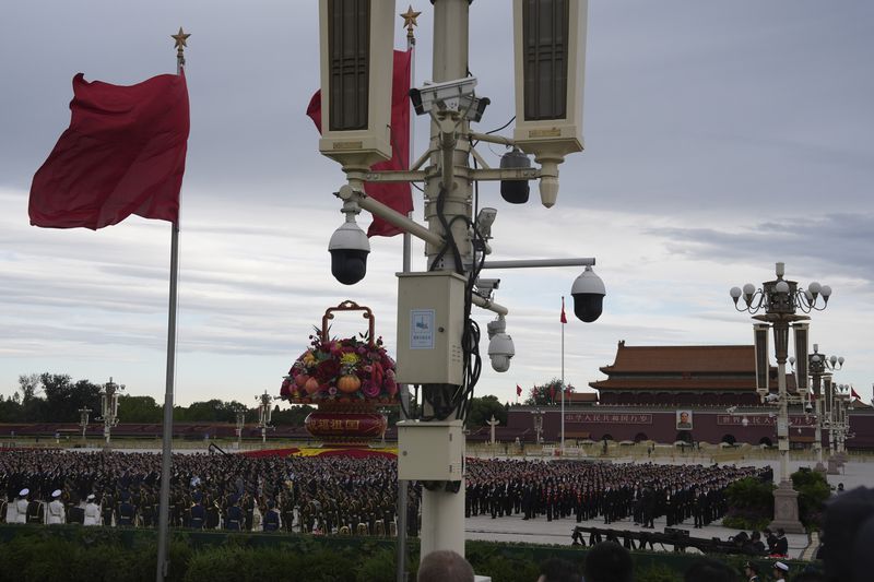
[(382, 337), (370, 343), (367, 334), (345, 340), (310, 335), (310, 347), (298, 357), (282, 382), (280, 395), (292, 402), (390, 403), (397, 399), (394, 360)]

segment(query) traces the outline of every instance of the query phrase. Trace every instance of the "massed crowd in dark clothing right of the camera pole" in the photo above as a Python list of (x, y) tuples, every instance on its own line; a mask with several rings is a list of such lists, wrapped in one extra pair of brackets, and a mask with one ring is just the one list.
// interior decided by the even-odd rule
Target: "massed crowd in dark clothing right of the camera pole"
[(687, 520), (702, 527), (727, 511), (725, 488), (745, 477), (772, 479), (769, 467), (606, 464), (587, 461), (468, 462), (465, 515), (546, 521), (631, 520), (653, 527)]

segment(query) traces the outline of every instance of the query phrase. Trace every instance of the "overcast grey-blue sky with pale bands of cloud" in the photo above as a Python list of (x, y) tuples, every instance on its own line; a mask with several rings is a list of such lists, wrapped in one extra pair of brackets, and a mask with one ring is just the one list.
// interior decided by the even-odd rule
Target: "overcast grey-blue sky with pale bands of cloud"
[[(397, 12), (406, 9), (399, 2)], [(430, 79), (430, 2), (416, 31), (415, 81)], [(509, 0), (471, 5), (470, 70), (492, 105), (480, 131), (512, 116)], [(131, 217), (99, 231), (27, 218), (34, 173), (68, 127), (71, 80), (117, 84), (175, 72), (186, 52), (191, 136), (182, 187), (176, 402), (255, 405), (279, 393), (324, 309), (371, 307), (393, 353), (401, 237), (375, 238), (367, 277), (336, 283), (327, 251), (343, 221), (340, 167), (305, 117), (318, 87), (317, 2), (33, 0), (0, 19), (0, 394), (49, 371), (163, 401), (169, 225)], [(836, 375), (867, 401), (874, 381), (874, 3), (592, 0), (586, 152), (560, 166), (558, 203), (498, 209), (494, 260), (595, 257), (607, 296), (595, 323), (569, 318), (565, 378), (603, 379), (616, 343), (751, 344), (729, 288), (787, 277), (828, 284), (811, 342), (842, 355)], [(405, 44), (401, 19), (395, 46)], [(415, 120), (416, 152), (427, 120)], [(505, 135), (511, 135), (508, 128)], [(481, 147), (492, 165), (504, 150)], [(424, 222), (421, 195), (415, 218)], [(366, 213), (365, 213), (366, 214)], [(366, 228), (369, 217), (362, 215)], [(425, 269), (414, 244), (413, 270)], [(515, 401), (562, 376), (562, 296), (579, 269), (488, 272), (509, 308), (516, 357), (486, 361), (477, 395)], [(570, 307), (568, 307), (570, 310)], [(476, 311), (483, 328), (489, 312)], [(364, 331), (339, 317), (333, 331)]]

